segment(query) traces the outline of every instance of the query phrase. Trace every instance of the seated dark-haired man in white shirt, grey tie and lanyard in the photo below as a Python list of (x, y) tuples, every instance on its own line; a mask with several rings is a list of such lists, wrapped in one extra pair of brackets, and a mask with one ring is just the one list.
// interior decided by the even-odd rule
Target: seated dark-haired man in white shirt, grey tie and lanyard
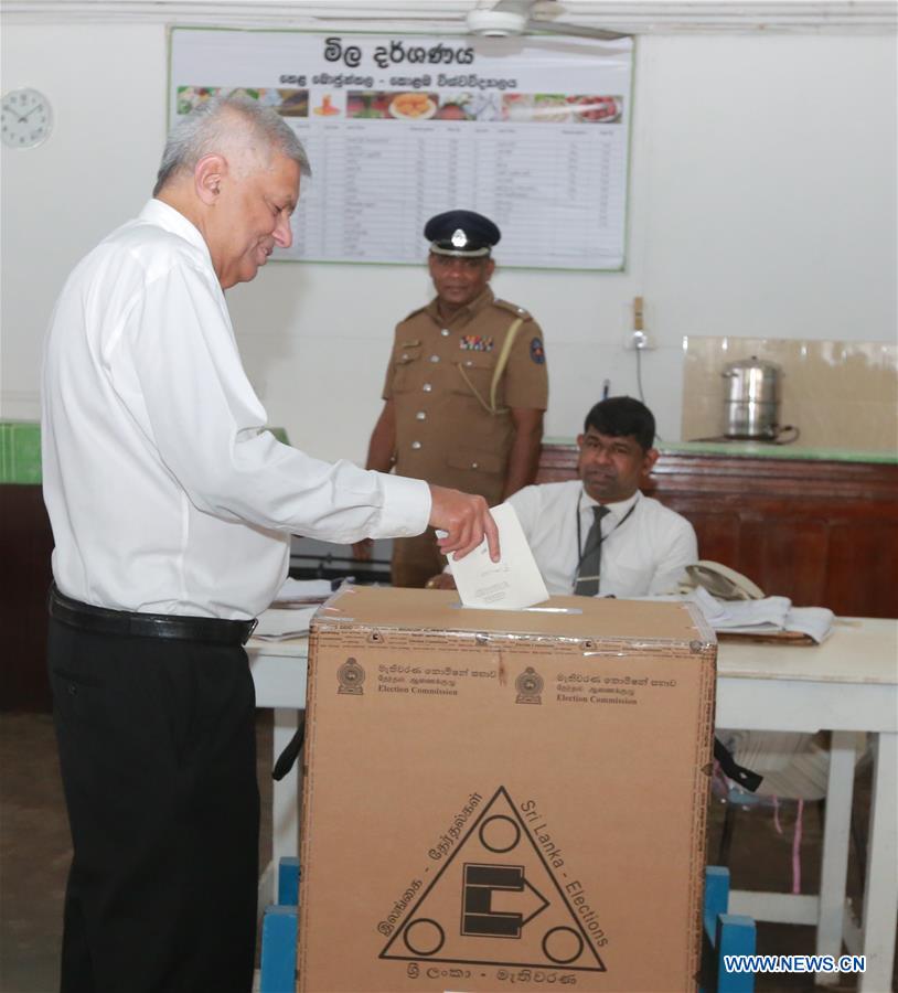
[[(655, 461), (655, 419), (638, 399), (596, 404), (577, 438), (579, 479), (525, 487), (515, 509), (553, 595), (673, 592), (698, 558), (692, 524), (639, 490)], [(448, 573), (429, 584), (452, 587)]]

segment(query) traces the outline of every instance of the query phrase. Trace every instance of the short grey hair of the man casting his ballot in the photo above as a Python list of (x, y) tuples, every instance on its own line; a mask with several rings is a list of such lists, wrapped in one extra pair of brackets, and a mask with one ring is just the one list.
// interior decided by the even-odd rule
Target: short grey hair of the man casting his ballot
[(169, 132), (152, 195), (158, 196), (179, 172), (192, 172), (203, 156), (223, 152), (238, 116), (250, 137), (267, 150), (292, 159), (302, 175), (312, 170), (302, 142), (271, 107), (246, 96), (212, 97), (192, 110)]

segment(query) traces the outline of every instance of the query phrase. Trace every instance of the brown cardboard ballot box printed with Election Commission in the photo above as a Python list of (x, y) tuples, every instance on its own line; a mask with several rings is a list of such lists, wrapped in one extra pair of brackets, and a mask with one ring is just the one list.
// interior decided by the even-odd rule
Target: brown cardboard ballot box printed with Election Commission
[(548, 605), (346, 588), (317, 615), (304, 993), (695, 987), (714, 634)]

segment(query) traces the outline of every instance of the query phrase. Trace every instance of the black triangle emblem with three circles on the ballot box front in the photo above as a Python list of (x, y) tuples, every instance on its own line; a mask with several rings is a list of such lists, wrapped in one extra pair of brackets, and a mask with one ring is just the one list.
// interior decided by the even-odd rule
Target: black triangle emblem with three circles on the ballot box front
[(566, 895), (576, 896), (579, 883), (562, 866), (541, 851), (500, 787), (379, 958), (605, 972)]

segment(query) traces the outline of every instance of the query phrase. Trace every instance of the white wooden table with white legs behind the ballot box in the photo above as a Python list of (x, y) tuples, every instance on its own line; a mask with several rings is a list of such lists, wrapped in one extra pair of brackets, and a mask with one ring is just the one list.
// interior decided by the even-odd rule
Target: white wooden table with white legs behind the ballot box
[[(306, 706), (304, 640), (250, 640), (256, 705), (275, 711), (277, 757)], [(817, 954), (837, 958), (842, 941), (867, 958), (862, 993), (890, 989), (898, 926), (898, 621), (845, 619), (814, 648), (723, 642), (718, 652), (717, 726), (752, 730), (830, 730), (832, 752), (823, 834), (820, 894), (749, 893), (730, 897), (734, 914), (756, 920), (816, 926)], [(870, 735), (873, 793), (862, 926), (846, 908), (845, 884), (854, 788), (853, 732)], [(260, 885), (274, 894), (274, 871), (282, 855), (296, 855), (298, 771), (275, 784), (272, 862)], [(836, 974), (817, 982), (833, 983)]]

